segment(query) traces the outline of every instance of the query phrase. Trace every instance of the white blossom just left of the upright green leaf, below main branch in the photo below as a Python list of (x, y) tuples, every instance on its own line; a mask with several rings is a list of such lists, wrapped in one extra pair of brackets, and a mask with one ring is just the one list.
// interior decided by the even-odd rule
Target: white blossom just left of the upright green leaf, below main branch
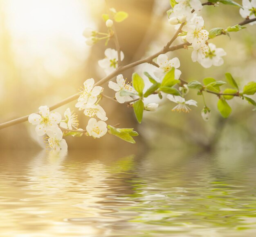
[(135, 89), (129, 83), (126, 84), (126, 80), (124, 80), (124, 77), (122, 74), (119, 74), (117, 76), (117, 83), (111, 82), (111, 81), (108, 82), (108, 87), (116, 91), (115, 97), (117, 101), (121, 104), (129, 100), (132, 100), (132, 97), (130, 97), (130, 95), (121, 96), (120, 95), (121, 90), (126, 90), (132, 93), (136, 93)]

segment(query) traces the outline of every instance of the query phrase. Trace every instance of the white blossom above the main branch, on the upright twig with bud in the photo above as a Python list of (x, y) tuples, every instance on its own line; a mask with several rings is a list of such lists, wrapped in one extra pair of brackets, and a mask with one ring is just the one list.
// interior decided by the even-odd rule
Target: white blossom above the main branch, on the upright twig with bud
[[(104, 69), (105, 73), (109, 75), (117, 69), (118, 64), (118, 53), (115, 49), (106, 49), (105, 50), (106, 58), (98, 61), (99, 66)], [(121, 51), (120, 54), (121, 61), (124, 60), (124, 53)]]

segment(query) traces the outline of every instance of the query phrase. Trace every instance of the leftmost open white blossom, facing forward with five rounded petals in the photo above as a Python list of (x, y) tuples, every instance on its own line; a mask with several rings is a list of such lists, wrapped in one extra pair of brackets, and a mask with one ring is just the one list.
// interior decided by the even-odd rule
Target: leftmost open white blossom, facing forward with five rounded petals
[(40, 106), (39, 114), (32, 113), (28, 118), (29, 122), (36, 125), (38, 136), (45, 135), (47, 130), (56, 130), (61, 122), (61, 114), (57, 112), (50, 113), (48, 106)]

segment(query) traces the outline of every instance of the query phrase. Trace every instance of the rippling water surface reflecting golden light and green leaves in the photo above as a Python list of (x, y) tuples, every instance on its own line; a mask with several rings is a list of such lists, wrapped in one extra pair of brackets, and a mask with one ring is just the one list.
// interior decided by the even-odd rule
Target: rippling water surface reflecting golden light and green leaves
[(254, 236), (255, 181), (235, 152), (3, 151), (1, 236)]

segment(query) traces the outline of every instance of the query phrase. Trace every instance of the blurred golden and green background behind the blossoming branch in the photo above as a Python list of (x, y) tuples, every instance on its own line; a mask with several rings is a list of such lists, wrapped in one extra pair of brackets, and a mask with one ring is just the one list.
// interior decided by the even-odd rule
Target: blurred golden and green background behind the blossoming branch
[[(241, 2), (240, 2), (241, 3)], [(157, 52), (172, 37), (175, 29), (168, 24), (166, 10), (168, 0), (108, 0), (110, 7), (126, 11), (129, 18), (116, 24), (124, 64)], [(106, 32), (101, 14), (106, 12), (103, 0), (0, 0), (0, 123), (38, 111), (40, 105), (51, 106), (78, 92), (88, 78), (95, 81), (105, 76), (97, 61), (104, 58), (104, 42), (93, 47), (85, 44), (82, 33), (86, 27)], [(228, 27), (243, 21), (239, 10), (229, 5), (206, 6), (202, 10), (205, 29)], [(182, 79), (198, 80), (205, 77), (225, 80), (230, 72), (240, 88), (256, 80), (256, 25), (212, 40), (222, 47), (227, 56), (219, 67), (204, 69), (191, 60), (191, 49), (180, 49), (169, 57), (178, 57), (181, 62)], [(177, 40), (174, 44), (179, 44)], [(110, 41), (108, 47), (115, 45)], [(131, 81), (136, 70), (153, 74), (155, 66), (142, 64), (123, 73)], [(145, 83), (150, 86), (147, 78)], [(105, 93), (114, 96), (103, 85)], [(256, 113), (247, 102), (234, 98), (230, 101), (233, 112), (228, 119), (220, 117), (215, 95), (206, 95), (211, 109), (211, 119), (201, 117), (202, 98), (192, 91), (187, 98), (198, 101), (191, 113), (172, 112), (174, 104), (165, 99), (161, 102), (152, 96), (150, 102), (159, 102), (157, 112), (145, 112), (138, 126), (133, 111), (125, 105), (103, 100), (108, 124), (120, 123), (120, 127), (134, 127), (140, 136), (137, 145), (128, 144), (117, 137), (106, 135), (100, 140), (92, 137), (67, 137), (72, 148), (236, 148), (254, 150), (256, 144)], [(149, 102), (146, 100), (146, 102)], [(81, 128), (88, 118), (71, 102), (56, 111), (63, 113), (67, 107), (79, 115)], [(0, 130), (0, 148), (40, 148), (43, 139), (34, 132), (28, 122)]]

